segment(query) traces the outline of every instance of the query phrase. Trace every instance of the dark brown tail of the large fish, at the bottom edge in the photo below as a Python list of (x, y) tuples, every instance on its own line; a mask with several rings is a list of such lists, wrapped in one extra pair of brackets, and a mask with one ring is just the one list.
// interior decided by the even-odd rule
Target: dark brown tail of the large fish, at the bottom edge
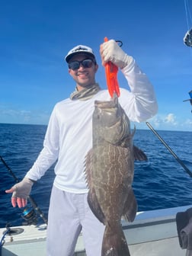
[(101, 256), (130, 256), (126, 238), (121, 226), (111, 229), (106, 226)]

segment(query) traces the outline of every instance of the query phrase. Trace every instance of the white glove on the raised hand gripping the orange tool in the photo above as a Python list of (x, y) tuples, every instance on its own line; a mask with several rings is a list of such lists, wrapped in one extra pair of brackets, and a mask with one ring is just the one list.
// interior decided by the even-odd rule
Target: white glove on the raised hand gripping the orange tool
[(128, 56), (125, 52), (123, 52), (115, 40), (109, 40), (103, 43), (102, 50), (104, 62), (111, 61), (120, 69), (123, 69), (125, 66), (129, 65), (133, 60), (133, 57)]

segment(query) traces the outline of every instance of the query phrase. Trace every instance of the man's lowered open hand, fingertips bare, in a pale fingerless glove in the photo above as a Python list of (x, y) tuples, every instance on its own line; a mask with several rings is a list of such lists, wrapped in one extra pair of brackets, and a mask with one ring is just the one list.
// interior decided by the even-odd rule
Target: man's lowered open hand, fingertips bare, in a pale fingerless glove
[(5, 190), (6, 193), (13, 193), (11, 198), (12, 206), (24, 207), (27, 204), (27, 197), (30, 195), (31, 187), (34, 181), (29, 178), (24, 178), (21, 182), (15, 184), (10, 190)]

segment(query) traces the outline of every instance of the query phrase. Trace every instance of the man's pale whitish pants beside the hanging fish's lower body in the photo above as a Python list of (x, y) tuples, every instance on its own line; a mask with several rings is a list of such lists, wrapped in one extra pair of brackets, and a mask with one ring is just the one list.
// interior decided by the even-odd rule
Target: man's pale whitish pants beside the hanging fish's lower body
[(87, 194), (72, 194), (53, 186), (48, 216), (46, 255), (74, 255), (81, 231), (87, 256), (100, 256), (104, 225), (91, 212)]

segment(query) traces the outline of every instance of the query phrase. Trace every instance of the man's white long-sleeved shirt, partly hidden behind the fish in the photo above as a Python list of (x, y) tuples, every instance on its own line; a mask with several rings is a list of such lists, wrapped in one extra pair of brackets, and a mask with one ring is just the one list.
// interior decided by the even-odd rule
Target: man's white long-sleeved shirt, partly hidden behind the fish
[[(142, 122), (157, 112), (155, 93), (146, 74), (136, 62), (122, 69), (130, 91), (120, 88), (119, 102), (130, 121)], [(85, 156), (92, 146), (92, 114), (94, 101), (110, 100), (107, 90), (99, 91), (87, 101), (67, 98), (56, 104), (47, 126), (43, 149), (26, 177), (40, 179), (56, 162), (54, 185), (72, 193), (86, 193)]]

